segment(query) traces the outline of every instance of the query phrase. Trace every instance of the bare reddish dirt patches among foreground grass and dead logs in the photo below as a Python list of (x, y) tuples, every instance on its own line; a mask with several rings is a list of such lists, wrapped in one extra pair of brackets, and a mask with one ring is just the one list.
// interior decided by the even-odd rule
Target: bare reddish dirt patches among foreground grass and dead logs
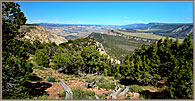
[[(51, 84), (51, 87), (45, 89), (45, 91), (49, 94), (50, 99), (60, 99), (58, 94), (61, 94), (64, 92), (64, 89), (61, 87), (60, 80), (63, 80), (64, 83), (69, 87), (69, 88), (76, 88), (76, 87), (81, 87), (84, 90), (89, 90), (89, 91), (94, 91), (95, 94), (100, 94), (100, 95), (105, 95), (105, 94), (112, 94), (114, 90), (109, 89), (103, 89), (98, 87), (94, 88), (87, 88), (86, 87), (86, 79), (80, 79), (80, 78), (67, 78), (68, 76), (64, 76), (62, 73), (58, 73), (56, 70), (53, 70), (51, 68), (46, 68), (46, 70), (39, 70), (39, 69), (34, 69), (34, 74), (36, 74), (38, 77), (42, 78), (41, 82), (44, 83), (49, 83)], [(47, 78), (49, 77), (55, 77), (57, 82), (48, 82)], [(40, 82), (40, 81), (39, 81)], [(36, 81), (34, 81), (36, 83)], [(106, 99), (110, 99), (111, 96), (105, 96)], [(125, 96), (119, 97), (117, 99), (140, 99), (140, 94), (139, 93), (134, 93), (134, 92), (128, 92)]]

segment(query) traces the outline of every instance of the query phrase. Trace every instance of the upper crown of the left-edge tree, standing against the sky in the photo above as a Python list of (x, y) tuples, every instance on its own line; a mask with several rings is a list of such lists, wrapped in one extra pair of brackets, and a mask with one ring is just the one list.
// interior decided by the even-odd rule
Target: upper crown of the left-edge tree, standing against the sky
[(13, 39), (16, 36), (21, 36), (18, 32), (20, 26), (25, 24), (27, 19), (24, 13), (21, 12), (20, 5), (14, 2), (2, 3), (2, 22), (3, 22), (3, 43), (6, 40)]

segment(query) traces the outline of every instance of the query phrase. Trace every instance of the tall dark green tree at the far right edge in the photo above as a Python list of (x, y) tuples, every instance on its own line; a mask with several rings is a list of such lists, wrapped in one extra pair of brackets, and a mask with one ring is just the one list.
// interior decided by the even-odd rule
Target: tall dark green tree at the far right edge
[(167, 84), (171, 98), (191, 99), (193, 98), (193, 44), (191, 35), (180, 44), (179, 51), (176, 53), (178, 55), (174, 59), (174, 68), (169, 75)]

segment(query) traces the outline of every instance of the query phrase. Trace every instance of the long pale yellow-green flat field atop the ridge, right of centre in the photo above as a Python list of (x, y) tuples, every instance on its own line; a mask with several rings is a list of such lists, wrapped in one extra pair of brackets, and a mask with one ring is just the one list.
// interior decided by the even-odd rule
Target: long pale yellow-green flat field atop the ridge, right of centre
[[(114, 31), (121, 33), (121, 34), (129, 35), (129, 36), (135, 36), (135, 37), (139, 37), (139, 38), (146, 38), (146, 39), (152, 39), (152, 40), (160, 40), (161, 38), (162, 39), (166, 38), (164, 36), (155, 35), (152, 33), (130, 33), (130, 32), (119, 31), (119, 30), (114, 30)], [(171, 39), (176, 40), (175, 38), (171, 38)], [(183, 39), (179, 39), (179, 41), (182, 42)]]

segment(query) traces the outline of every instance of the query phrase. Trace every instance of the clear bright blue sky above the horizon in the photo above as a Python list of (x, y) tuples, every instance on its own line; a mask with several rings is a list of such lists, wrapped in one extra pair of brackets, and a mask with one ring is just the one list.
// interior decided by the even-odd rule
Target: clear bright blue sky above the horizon
[(193, 2), (18, 2), (27, 23), (193, 23)]

